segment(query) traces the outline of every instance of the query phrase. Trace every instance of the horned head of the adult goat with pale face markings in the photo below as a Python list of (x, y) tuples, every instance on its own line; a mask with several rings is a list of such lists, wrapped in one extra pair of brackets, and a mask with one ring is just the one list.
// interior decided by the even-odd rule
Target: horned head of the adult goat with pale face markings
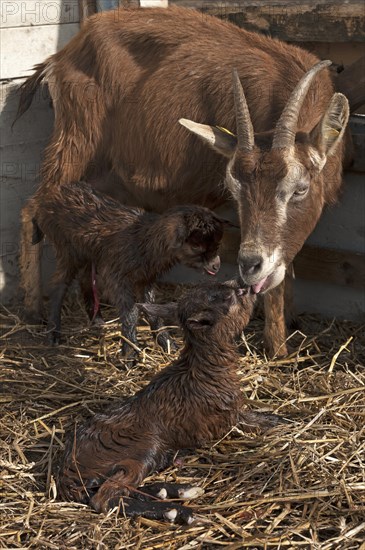
[(313, 78), (329, 64), (321, 61), (303, 76), (272, 131), (254, 134), (236, 71), (237, 136), (180, 119), (183, 126), (228, 158), (225, 183), (238, 203), (241, 224), (239, 272), (256, 293), (283, 280), (286, 267), (313, 230), (324, 205), (322, 170), (343, 138), (349, 117), (347, 99), (334, 94), (309, 132), (298, 131), (297, 125)]

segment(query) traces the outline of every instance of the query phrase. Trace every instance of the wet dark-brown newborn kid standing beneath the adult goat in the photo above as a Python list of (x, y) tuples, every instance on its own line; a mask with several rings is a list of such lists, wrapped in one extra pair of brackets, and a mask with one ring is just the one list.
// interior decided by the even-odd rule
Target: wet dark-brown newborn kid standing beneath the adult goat
[[(123, 206), (93, 191), (87, 183), (74, 182), (38, 195), (33, 221), (33, 241), (39, 242), (45, 234), (56, 251), (48, 320), (52, 343), (60, 338), (65, 292), (80, 272), (89, 317), (99, 314), (92, 266), (96, 287), (116, 306), (123, 336), (136, 346), (135, 304), (154, 300), (153, 284), (158, 276), (177, 263), (211, 275), (220, 267), (218, 247), (225, 222), (203, 206), (175, 206), (156, 214)], [(161, 319), (149, 320), (153, 330), (161, 328)], [(167, 351), (167, 331), (158, 332), (157, 340)], [(122, 352), (124, 356), (136, 355), (126, 342)]]

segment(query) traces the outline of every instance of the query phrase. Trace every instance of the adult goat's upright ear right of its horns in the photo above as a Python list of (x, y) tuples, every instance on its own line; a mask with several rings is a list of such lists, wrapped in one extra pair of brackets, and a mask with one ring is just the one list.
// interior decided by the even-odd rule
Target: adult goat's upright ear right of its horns
[(326, 157), (333, 155), (341, 142), (350, 116), (350, 107), (343, 94), (333, 94), (327, 111), (311, 132), (311, 141)]

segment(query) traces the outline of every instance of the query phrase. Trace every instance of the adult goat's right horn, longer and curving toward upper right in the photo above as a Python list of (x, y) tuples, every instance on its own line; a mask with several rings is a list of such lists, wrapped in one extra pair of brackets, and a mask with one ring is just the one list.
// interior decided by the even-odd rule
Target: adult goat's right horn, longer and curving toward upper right
[(273, 149), (283, 149), (294, 145), (295, 134), (300, 109), (303, 105), (305, 97), (313, 78), (319, 71), (332, 64), (328, 59), (316, 63), (305, 75), (301, 78), (297, 86), (292, 91), (288, 103), (285, 105), (283, 112), (276, 124), (274, 139), (272, 143)]

